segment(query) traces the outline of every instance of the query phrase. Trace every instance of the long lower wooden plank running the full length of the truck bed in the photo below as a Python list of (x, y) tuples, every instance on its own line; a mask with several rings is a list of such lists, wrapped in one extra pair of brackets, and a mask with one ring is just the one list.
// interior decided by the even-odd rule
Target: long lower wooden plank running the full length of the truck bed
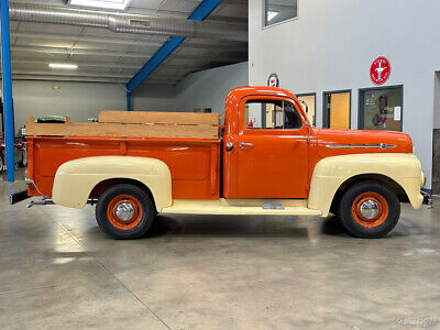
[(26, 123), (26, 135), (218, 139), (219, 128), (212, 125), (98, 122), (35, 123), (34, 119), (30, 117)]

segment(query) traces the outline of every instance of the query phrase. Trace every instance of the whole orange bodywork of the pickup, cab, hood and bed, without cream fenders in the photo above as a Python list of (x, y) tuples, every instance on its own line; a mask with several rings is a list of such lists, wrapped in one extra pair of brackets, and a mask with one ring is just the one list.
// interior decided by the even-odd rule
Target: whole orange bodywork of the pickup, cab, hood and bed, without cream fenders
[[(302, 127), (248, 129), (245, 102), (258, 99), (294, 103)], [(324, 157), (413, 152), (409, 135), (400, 132), (311, 128), (296, 96), (272, 87), (232, 90), (226, 101), (224, 128), (218, 140), (102, 136), (28, 136), (26, 140), (28, 176), (44, 196), (52, 196), (54, 177), (63, 163), (89, 156), (128, 155), (163, 161), (172, 174), (174, 199), (307, 198), (314, 168)], [(227, 143), (233, 145), (231, 151), (227, 151)], [(98, 197), (105, 189), (102, 186), (94, 189), (91, 197)], [(28, 194), (40, 195), (33, 185), (29, 185)]]

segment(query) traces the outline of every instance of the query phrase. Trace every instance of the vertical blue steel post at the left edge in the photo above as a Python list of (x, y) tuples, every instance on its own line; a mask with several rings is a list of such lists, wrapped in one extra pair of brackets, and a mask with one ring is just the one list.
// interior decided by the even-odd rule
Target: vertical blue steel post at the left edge
[(12, 79), (11, 79), (11, 46), (9, 31), (9, 3), (0, 0), (1, 19), (1, 67), (3, 78), (3, 105), (4, 105), (4, 142), (7, 150), (8, 182), (13, 183), (14, 160), (14, 128), (12, 108)]

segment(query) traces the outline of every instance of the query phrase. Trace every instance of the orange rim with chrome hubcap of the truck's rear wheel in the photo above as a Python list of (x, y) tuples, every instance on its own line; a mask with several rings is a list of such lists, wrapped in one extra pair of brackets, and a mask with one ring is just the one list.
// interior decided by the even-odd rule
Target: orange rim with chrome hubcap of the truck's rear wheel
[(143, 217), (142, 205), (131, 195), (120, 195), (110, 200), (107, 217), (118, 229), (129, 230), (136, 227)]

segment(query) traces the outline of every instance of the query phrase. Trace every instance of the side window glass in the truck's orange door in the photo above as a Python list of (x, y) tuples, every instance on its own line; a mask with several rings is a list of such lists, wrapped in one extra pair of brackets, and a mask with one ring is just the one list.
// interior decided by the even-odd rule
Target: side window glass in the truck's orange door
[(293, 103), (283, 100), (250, 100), (244, 107), (248, 129), (295, 130), (302, 127)]

